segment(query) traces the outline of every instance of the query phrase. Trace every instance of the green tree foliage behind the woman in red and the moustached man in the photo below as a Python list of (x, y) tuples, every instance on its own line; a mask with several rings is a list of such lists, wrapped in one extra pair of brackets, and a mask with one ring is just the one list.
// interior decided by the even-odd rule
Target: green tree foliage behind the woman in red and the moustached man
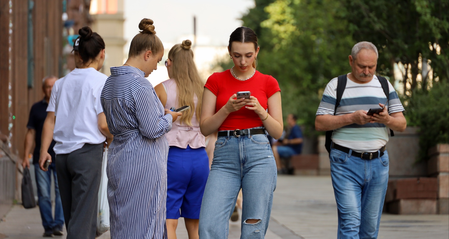
[[(410, 64), (405, 79), (409, 73), (413, 94), (421, 94), (414, 89), (421, 74), (419, 57), (430, 60), (434, 79), (447, 82), (448, 7), (449, 0), (255, 0), (255, 8), (242, 21), (259, 36), (258, 70), (279, 82), (284, 116), (296, 113), (313, 129), (324, 87), (351, 70), (348, 55), (357, 42), (370, 41), (378, 47), (377, 74), (390, 80), (394, 63)], [(423, 94), (427, 92), (421, 98)], [(408, 109), (425, 107), (412, 104), (413, 96), (403, 100), (410, 102)], [(423, 123), (416, 117), (410, 120)]]

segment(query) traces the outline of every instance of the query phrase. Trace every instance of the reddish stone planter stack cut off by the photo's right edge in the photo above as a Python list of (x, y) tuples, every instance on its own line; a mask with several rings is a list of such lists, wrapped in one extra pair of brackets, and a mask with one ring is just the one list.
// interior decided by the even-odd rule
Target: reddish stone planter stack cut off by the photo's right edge
[(437, 213), (449, 214), (449, 144), (438, 144), (429, 150), (427, 172), (437, 181)]

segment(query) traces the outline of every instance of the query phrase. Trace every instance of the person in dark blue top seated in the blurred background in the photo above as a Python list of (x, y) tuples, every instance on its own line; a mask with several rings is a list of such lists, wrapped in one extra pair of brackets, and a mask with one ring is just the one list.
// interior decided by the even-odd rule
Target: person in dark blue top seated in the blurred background
[[(287, 116), (287, 124), (290, 127), (290, 134), (286, 139), (279, 140), (273, 147), (274, 159), (276, 160), (276, 167), (278, 172), (290, 172), (290, 163), (282, 164), (281, 158), (289, 162), (290, 157), (300, 154), (303, 148), (303, 133), (301, 128), (296, 124), (298, 117), (294, 114)], [(291, 173), (292, 173), (291, 172)]]

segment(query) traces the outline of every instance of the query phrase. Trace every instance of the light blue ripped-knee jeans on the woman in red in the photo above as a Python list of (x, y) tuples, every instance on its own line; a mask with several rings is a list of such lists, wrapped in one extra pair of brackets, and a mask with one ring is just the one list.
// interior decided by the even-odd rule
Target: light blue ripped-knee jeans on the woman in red
[[(258, 127), (259, 128), (259, 127)], [(273, 204), (277, 170), (266, 135), (219, 137), (199, 216), (200, 239), (227, 239), (229, 218), (242, 188), (241, 239), (263, 239)], [(248, 219), (257, 222), (247, 223)], [(254, 220), (251, 220), (254, 221)]]

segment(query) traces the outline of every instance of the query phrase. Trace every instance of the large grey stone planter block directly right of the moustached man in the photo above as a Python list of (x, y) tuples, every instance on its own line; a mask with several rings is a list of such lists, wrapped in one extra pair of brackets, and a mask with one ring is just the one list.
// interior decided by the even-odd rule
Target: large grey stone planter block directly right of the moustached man
[[(416, 162), (419, 152), (418, 127), (407, 127), (404, 132), (395, 131), (389, 137), (387, 151), (390, 159), (390, 178), (427, 176), (426, 162)], [(388, 134), (390, 130), (387, 130)]]

